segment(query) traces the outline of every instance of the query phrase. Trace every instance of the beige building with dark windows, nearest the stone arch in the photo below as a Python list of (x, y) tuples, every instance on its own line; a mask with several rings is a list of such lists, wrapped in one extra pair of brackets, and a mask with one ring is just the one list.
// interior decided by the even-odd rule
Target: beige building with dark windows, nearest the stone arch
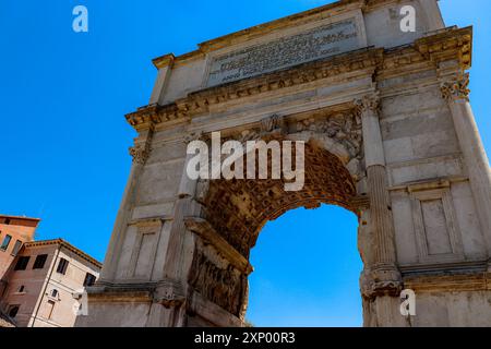
[(62, 239), (27, 242), (5, 273), (0, 311), (17, 327), (72, 327), (100, 267)]

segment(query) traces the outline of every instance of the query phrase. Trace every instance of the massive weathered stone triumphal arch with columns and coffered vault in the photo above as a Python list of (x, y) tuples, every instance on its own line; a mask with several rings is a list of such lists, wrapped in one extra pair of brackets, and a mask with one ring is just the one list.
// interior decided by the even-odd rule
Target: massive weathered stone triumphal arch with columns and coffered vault
[[(471, 45), (436, 0), (340, 0), (155, 59), (149, 104), (127, 116), (131, 174), (77, 325), (241, 326), (261, 228), (322, 203), (359, 217), (366, 326), (491, 325)], [(216, 131), (303, 141), (303, 188), (191, 179), (187, 145)], [(402, 314), (403, 290), (416, 316)]]

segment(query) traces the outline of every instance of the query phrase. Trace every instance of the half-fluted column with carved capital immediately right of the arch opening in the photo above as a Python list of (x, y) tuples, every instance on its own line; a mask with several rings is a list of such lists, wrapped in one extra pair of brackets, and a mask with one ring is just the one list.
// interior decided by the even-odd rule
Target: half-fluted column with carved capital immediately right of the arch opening
[(356, 100), (355, 104), (362, 120), (370, 224), (374, 234), (374, 265), (367, 266), (372, 279), (368, 291), (374, 296), (397, 293), (400, 288), (400, 273), (396, 266), (394, 226), (379, 122), (380, 99), (373, 94)]

